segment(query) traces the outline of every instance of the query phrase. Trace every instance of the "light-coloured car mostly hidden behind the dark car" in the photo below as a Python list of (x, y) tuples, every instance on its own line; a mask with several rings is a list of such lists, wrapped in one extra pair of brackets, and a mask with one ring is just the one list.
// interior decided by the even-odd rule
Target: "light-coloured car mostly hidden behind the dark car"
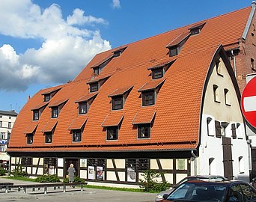
[(209, 180), (228, 180), (227, 178), (220, 176), (220, 175), (194, 175), (194, 176), (189, 176), (189, 177), (185, 177), (183, 178), (183, 180), (180, 180), (179, 183), (177, 183), (176, 185), (174, 185), (171, 189), (165, 190), (163, 192), (160, 192), (159, 194), (156, 195), (156, 199), (155, 201), (162, 201), (163, 199), (163, 195), (168, 195), (170, 194), (172, 191), (174, 191), (174, 189), (177, 186), (180, 186), (180, 184), (189, 181), (189, 180), (200, 180), (200, 179), (209, 179)]

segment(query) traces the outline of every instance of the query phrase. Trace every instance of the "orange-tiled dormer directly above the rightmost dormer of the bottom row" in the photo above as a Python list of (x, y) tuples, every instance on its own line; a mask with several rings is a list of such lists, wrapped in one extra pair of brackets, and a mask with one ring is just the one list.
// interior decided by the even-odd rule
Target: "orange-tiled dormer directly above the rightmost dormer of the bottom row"
[(156, 102), (156, 95), (158, 94), (165, 79), (157, 79), (145, 83), (138, 92), (141, 92), (142, 106), (154, 105)]

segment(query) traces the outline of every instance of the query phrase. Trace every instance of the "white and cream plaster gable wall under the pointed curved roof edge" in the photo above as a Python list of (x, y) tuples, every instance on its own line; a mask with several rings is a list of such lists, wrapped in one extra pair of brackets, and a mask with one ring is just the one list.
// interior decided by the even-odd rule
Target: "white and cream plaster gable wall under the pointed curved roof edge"
[[(225, 121), (230, 123), (226, 128), (226, 136), (231, 138), (231, 123), (240, 123), (240, 129), (237, 131), (237, 139), (231, 138), (232, 146), (232, 159), (233, 174), (236, 179), (249, 180), (249, 152), (246, 143), (246, 133), (243, 128), (243, 115), (240, 110), (240, 103), (237, 99), (235, 88), (231, 82), (231, 77), (228, 75), (228, 70), (225, 67), (222, 59), (220, 64), (222, 67), (222, 76), (216, 73), (216, 67), (213, 68), (213, 73), (210, 76), (209, 83), (204, 98), (204, 108), (201, 122), (201, 145), (199, 147), (199, 158), (197, 159), (198, 174), (220, 174), (224, 175), (223, 168), (223, 151), (222, 151), (222, 138), (215, 136), (215, 120), (220, 122)], [(220, 103), (214, 101), (213, 85), (219, 86)], [(224, 89), (227, 88), (230, 93), (231, 105), (225, 105)], [(210, 135), (207, 135), (207, 117), (211, 117)], [(240, 139), (243, 138), (243, 139)], [(239, 156), (245, 159), (245, 173), (239, 172)], [(213, 166), (216, 168), (209, 169), (209, 159), (213, 157)]]

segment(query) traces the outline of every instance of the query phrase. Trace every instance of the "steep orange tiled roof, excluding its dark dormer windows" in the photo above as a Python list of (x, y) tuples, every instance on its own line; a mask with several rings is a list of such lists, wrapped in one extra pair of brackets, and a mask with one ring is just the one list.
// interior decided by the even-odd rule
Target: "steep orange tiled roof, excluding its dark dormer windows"
[[(141, 88), (152, 84), (151, 69), (165, 64), (172, 58), (166, 46), (181, 34), (189, 31), (196, 22), (173, 31), (129, 43), (118, 57), (113, 57), (103, 68), (100, 76), (91, 80), (95, 64), (112, 55), (113, 49), (96, 55), (91, 62), (73, 80), (58, 89), (58, 93), (49, 101), (38, 120), (32, 145), (26, 144), (24, 132), (31, 123), (31, 108), (43, 102), (42, 94), (51, 91), (39, 91), (29, 100), (19, 113), (13, 126), (8, 151), (61, 151), (68, 150), (193, 150), (198, 145), (201, 96), (207, 71), (213, 55), (219, 45), (237, 44), (242, 37), (251, 8), (246, 7), (222, 16), (204, 20), (206, 22), (200, 34), (189, 36), (174, 63), (168, 68), (153, 106), (141, 106)], [(97, 96), (91, 103), (85, 118), (73, 123), (78, 116), (77, 101), (88, 97), (89, 85), (100, 82), (97, 78), (109, 78), (100, 86)], [(155, 86), (155, 85), (154, 85)], [(159, 86), (159, 85), (157, 85)], [(132, 87), (121, 111), (112, 111), (112, 97), (117, 89)], [(52, 88), (57, 89), (57, 88)], [(121, 93), (124, 93), (123, 90)], [(120, 92), (118, 92), (120, 94)], [(51, 117), (51, 108), (59, 100), (66, 100), (61, 108), (52, 144), (45, 144), (43, 129)], [(143, 112), (140, 112), (143, 111)], [(142, 114), (146, 114), (144, 117)], [(113, 119), (111, 119), (111, 117)], [(153, 121), (149, 139), (138, 139), (134, 125), (144, 121)], [(75, 124), (75, 125), (73, 125)], [(70, 126), (84, 126), (82, 141), (73, 144)], [(118, 141), (106, 141), (103, 126), (120, 125)], [(51, 127), (52, 129), (52, 127)], [(46, 147), (50, 146), (50, 147)]]

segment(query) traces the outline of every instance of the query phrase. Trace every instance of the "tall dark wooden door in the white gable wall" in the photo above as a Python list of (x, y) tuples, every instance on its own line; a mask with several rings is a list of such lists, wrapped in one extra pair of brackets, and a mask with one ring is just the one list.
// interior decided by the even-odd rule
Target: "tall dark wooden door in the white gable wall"
[(233, 180), (233, 160), (231, 138), (222, 137), (224, 176)]

